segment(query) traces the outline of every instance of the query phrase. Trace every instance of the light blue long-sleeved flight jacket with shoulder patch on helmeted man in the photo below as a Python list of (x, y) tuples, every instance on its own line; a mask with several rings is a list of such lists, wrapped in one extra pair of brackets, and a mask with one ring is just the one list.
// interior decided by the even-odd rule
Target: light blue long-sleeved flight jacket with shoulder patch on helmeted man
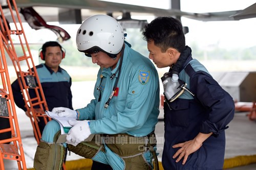
[[(90, 130), (93, 134), (127, 133), (146, 136), (155, 130), (158, 122), (160, 98), (157, 70), (148, 58), (141, 56), (126, 44), (121, 74), (111, 80), (110, 77), (116, 72), (119, 64), (120, 60), (113, 70), (99, 70), (94, 88), (95, 99), (87, 107), (77, 109), (80, 113), (79, 119), (92, 120)], [(106, 109), (104, 105), (110, 98), (118, 76), (118, 92), (114, 94), (109, 108)]]

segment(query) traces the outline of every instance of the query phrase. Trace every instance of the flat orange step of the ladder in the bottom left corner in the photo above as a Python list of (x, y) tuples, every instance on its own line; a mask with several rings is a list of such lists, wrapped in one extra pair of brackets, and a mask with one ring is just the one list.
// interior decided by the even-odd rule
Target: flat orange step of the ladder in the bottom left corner
[(4, 159), (20, 160), (18, 150), (13, 144), (0, 144), (0, 152)]

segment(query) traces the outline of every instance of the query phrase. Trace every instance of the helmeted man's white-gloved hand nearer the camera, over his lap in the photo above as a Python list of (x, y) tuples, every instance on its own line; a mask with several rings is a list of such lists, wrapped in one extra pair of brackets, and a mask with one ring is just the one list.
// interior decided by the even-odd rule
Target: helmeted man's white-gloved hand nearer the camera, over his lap
[(69, 124), (73, 127), (70, 129), (67, 135), (67, 142), (76, 146), (81, 141), (87, 139), (91, 135), (89, 120), (69, 120)]

